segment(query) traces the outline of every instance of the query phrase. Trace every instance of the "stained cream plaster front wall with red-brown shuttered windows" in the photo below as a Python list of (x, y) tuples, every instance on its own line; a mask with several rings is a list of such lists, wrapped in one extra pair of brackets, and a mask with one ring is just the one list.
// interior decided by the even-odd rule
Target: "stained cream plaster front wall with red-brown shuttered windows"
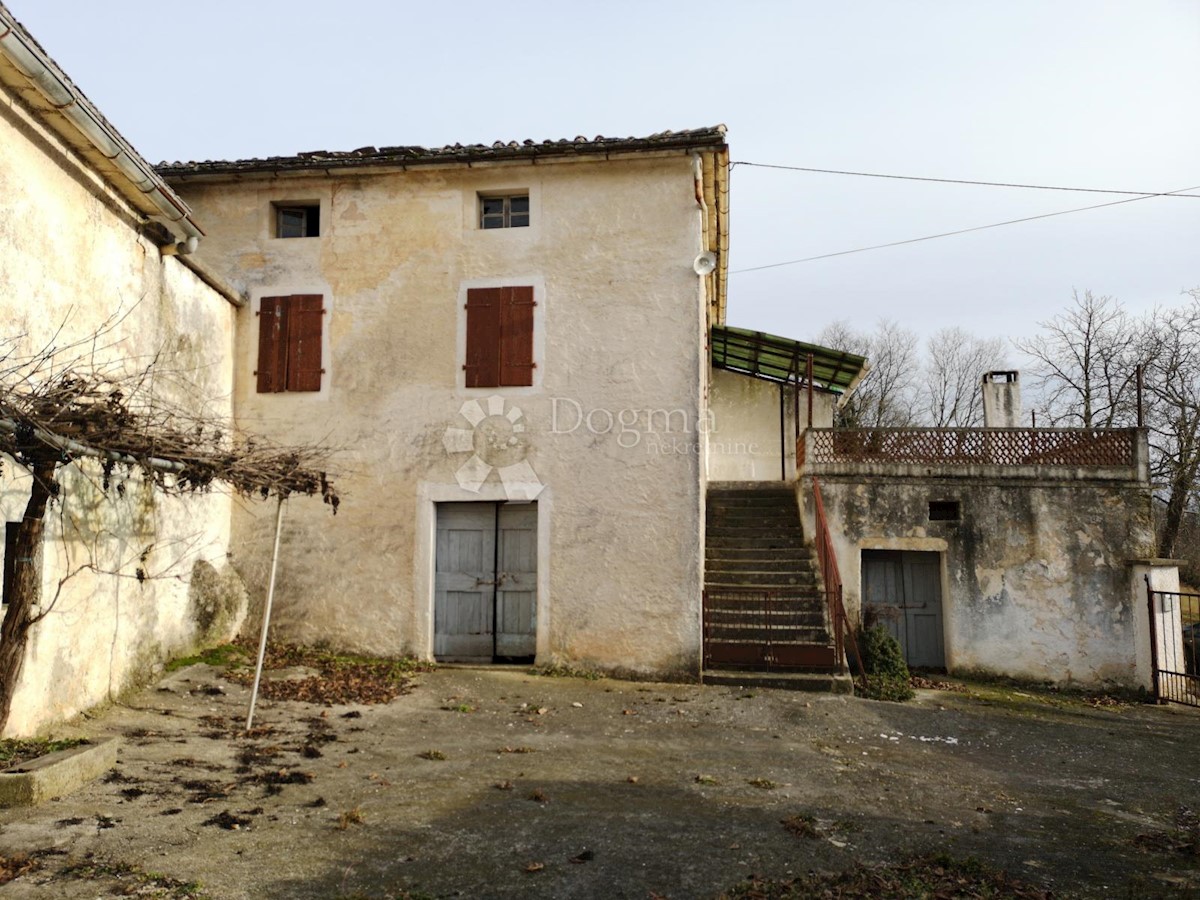
[[(373, 653), (432, 652), (433, 503), (461, 498), (467, 401), (520, 410), (539, 499), (539, 660), (695, 673), (700, 662), (696, 432), (703, 370), (700, 210), (686, 155), (434, 168), (178, 190), (210, 228), (200, 257), (245, 288), (240, 420), (346, 448), (336, 518), (292, 502), (278, 634)], [(534, 224), (480, 230), (479, 192), (527, 190)], [(317, 198), (322, 235), (270, 236), (272, 202)], [(463, 386), (462, 304), (479, 284), (533, 284), (532, 388)], [(256, 394), (263, 295), (323, 293), (330, 354), (319, 394)], [(515, 414), (515, 413), (514, 413)], [(686, 440), (653, 440), (650, 415)], [(499, 493), (498, 493), (499, 492)], [(493, 473), (474, 496), (503, 496)], [(550, 502), (550, 498), (553, 502)], [(270, 516), (235, 514), (235, 560), (259, 592)]]

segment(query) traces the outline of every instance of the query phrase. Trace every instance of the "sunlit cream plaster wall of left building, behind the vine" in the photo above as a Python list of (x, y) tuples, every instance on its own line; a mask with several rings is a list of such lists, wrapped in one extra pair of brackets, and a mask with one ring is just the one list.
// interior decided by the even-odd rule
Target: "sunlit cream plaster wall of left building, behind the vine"
[[(0, 95), (0, 338), (17, 353), (54, 344), (62, 356), (144, 368), (168, 392), (194, 389), (228, 413), (233, 310), (175, 259), (142, 239), (130, 210), (24, 108)], [(106, 324), (107, 323), (107, 324)], [(98, 329), (106, 334), (86, 341)], [(78, 343), (84, 341), (84, 343)], [(22, 517), (28, 476), (7, 457), (0, 517)], [(65, 470), (47, 514), (43, 595), (68, 571), (35, 628), (8, 734), (34, 732), (115, 696), (169, 654), (190, 649), (188, 584), (198, 559), (224, 566), (227, 497), (164, 500), (118, 473), (100, 488), (91, 464)], [(149, 551), (146, 551), (149, 547)], [(143, 558), (144, 557), (144, 558)], [(136, 577), (137, 568), (151, 576)], [(157, 577), (161, 576), (161, 577)]]

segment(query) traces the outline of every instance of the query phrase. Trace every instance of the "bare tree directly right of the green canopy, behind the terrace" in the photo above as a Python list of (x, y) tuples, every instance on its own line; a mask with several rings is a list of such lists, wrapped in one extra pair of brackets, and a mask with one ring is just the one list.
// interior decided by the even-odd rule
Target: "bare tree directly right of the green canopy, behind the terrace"
[(902, 427), (916, 419), (917, 335), (881, 319), (875, 331), (856, 331), (844, 320), (827, 325), (817, 343), (866, 356), (870, 368), (839, 412), (839, 425)]

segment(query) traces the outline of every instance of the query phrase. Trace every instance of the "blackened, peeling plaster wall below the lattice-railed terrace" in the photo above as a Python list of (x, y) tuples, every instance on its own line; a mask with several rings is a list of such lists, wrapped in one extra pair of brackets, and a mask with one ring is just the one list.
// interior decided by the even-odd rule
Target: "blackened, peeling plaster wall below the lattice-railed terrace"
[[(1146, 599), (1130, 560), (1153, 547), (1153, 529), (1136, 467), (839, 464), (808, 475), (798, 493), (806, 523), (816, 475), (852, 618), (864, 551), (934, 552), (948, 670), (1145, 683)], [(931, 502), (958, 503), (960, 517), (930, 521)]]

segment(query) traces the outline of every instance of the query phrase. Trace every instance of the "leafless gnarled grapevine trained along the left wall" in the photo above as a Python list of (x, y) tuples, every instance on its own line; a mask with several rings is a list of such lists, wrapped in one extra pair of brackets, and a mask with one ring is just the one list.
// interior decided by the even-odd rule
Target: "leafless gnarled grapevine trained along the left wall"
[[(64, 488), (65, 468), (86, 470), (104, 491), (121, 467), (167, 494), (206, 492), (222, 484), (244, 497), (319, 494), (337, 510), (337, 493), (324, 472), (328, 448), (277, 446), (238, 434), (229, 421), (198, 412), (204, 408), (199, 401), (166, 398), (155, 390), (157, 361), (133, 372), (97, 362), (106, 355), (101, 344), (110, 337), (110, 326), (106, 323), (76, 344), (49, 344), (29, 355), (18, 354), (16, 341), (0, 347), (0, 454), (31, 475), (0, 625), (0, 731), (30, 631), (55, 599), (42, 604), (36, 560), (42, 557), (46, 512)], [(122, 487), (119, 481), (114, 490)], [(59, 592), (61, 587), (60, 581)]]

